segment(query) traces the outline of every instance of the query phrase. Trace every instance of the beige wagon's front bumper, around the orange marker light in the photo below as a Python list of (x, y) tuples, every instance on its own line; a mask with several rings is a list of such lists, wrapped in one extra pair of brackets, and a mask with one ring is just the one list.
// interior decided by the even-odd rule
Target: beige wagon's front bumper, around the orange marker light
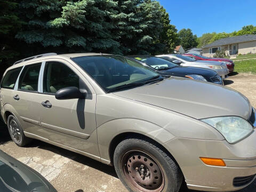
[[(246, 139), (230, 145), (226, 140), (197, 140), (175, 138), (164, 143), (170, 151), (186, 179), (189, 189), (203, 191), (235, 191), (250, 185), (234, 186), (237, 177), (256, 174), (256, 132)], [(221, 158), (226, 167), (209, 166), (199, 157)]]

